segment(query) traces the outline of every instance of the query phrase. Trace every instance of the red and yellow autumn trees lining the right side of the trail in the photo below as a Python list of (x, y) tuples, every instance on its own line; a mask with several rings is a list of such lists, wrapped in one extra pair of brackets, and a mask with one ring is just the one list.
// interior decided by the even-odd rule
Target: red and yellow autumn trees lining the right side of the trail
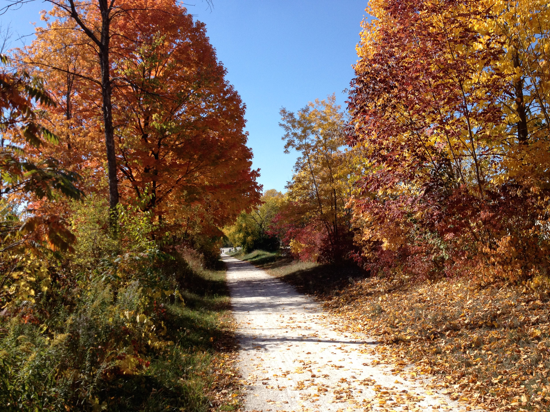
[(281, 111), (299, 158), (273, 219), (298, 258), (412, 279), (546, 276), (550, 9), (369, 2), (347, 110)]

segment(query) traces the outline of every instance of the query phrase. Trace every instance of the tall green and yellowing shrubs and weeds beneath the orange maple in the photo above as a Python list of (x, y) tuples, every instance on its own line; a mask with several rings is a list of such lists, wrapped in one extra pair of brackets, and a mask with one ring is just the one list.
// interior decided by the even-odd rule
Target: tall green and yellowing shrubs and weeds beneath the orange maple
[(151, 240), (155, 227), (139, 210), (120, 208), (114, 232), (107, 216), (93, 197), (74, 205), (75, 253), (42, 255), (49, 287), (3, 310), (3, 410), (210, 407), (213, 337), (226, 333), (223, 272)]

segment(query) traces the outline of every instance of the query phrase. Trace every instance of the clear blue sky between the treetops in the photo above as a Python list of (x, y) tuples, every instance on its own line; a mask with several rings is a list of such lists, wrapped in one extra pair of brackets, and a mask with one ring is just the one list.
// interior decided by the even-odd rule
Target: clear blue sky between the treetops
[[(227, 79), (246, 104), (246, 130), (254, 168), (265, 190), (284, 191), (295, 156), (283, 153), (279, 110), (298, 110), (315, 98), (343, 90), (353, 77), (355, 44), (366, 0), (196, 0), (188, 10), (206, 23), (207, 34)], [(2, 1), (3, 3), (3, 1)], [(33, 32), (38, 12), (49, 8), (37, 0), (0, 16), (18, 35)], [(17, 38), (14, 35), (12, 40)], [(17, 42), (13, 46), (19, 46)]]

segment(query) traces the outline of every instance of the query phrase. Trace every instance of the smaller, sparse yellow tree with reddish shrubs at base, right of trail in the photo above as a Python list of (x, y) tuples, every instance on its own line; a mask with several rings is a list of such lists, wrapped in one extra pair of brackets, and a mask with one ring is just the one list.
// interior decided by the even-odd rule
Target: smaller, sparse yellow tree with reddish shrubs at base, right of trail
[(342, 151), (345, 116), (335, 97), (309, 103), (297, 113), (281, 110), (285, 151), (298, 159), (288, 182), (284, 206), (274, 219), (274, 233), (295, 258), (340, 261), (352, 246), (353, 191), (350, 153)]

